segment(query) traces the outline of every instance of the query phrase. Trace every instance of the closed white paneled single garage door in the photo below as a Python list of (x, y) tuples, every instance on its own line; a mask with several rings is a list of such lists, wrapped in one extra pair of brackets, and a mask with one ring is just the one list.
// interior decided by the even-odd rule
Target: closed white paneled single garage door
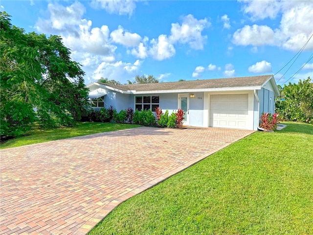
[(210, 95), (210, 126), (248, 129), (248, 94)]

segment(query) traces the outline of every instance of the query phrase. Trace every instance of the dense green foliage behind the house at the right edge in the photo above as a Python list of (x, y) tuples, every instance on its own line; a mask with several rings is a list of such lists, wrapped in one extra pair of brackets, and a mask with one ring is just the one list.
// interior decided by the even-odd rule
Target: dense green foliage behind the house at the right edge
[(313, 83), (311, 78), (280, 87), (275, 112), (280, 119), (313, 123)]

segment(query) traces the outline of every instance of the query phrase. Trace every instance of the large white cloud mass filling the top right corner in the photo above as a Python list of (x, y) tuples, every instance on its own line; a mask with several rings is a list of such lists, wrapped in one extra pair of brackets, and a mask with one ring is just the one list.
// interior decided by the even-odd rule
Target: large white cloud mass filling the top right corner
[[(279, 27), (272, 29), (267, 25), (245, 25), (233, 34), (235, 45), (266, 46), (272, 45), (287, 50), (297, 51), (313, 34), (313, 4), (311, 1), (273, 1), (273, 0), (243, 0), (243, 10), (252, 16), (252, 20), (274, 19), (281, 12)], [(241, 40), (242, 39), (242, 40)], [(312, 50), (310, 42), (305, 50)]]

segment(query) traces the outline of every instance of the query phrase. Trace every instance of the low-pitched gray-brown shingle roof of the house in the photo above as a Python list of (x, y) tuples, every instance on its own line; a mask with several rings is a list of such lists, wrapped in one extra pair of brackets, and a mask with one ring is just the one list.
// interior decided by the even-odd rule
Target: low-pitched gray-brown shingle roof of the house
[(109, 87), (122, 91), (151, 92), (151, 91), (171, 91), (171, 90), (194, 90), (194, 89), (212, 89), (212, 88), (232, 88), (232, 87), (258, 87), (262, 86), (273, 75), (232, 77), (218, 79), (204, 79), (181, 82), (160, 82), (149, 84), (131, 84), (131, 85), (107, 85)]

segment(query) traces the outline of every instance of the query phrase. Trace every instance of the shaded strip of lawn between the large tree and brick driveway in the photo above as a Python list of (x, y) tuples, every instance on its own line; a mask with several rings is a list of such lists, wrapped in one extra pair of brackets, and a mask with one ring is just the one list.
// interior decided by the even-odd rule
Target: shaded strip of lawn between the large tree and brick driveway
[(117, 131), (138, 126), (139, 125), (117, 124), (111, 122), (78, 122), (74, 127), (57, 128), (52, 130), (35, 129), (30, 131), (26, 136), (21, 136), (1, 143), (0, 149), (18, 147), (33, 143), (56, 141), (71, 137), (84, 136), (108, 131)]

